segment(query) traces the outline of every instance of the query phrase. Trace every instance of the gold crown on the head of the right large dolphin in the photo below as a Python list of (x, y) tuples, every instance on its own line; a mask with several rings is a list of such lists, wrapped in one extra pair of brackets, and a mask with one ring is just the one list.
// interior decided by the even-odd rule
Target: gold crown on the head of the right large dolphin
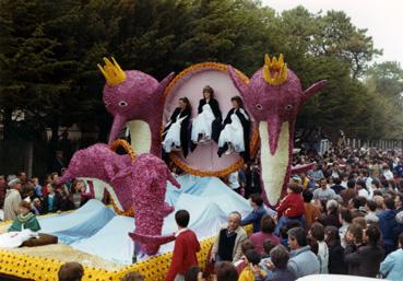
[[(273, 75), (272, 75), (273, 72)], [(268, 54), (264, 56), (264, 66), (263, 66), (263, 79), (268, 84), (280, 86), (281, 84), (287, 81), (288, 69), (287, 63), (284, 63), (283, 54), (280, 54), (280, 58), (277, 60), (276, 57), (273, 57), (270, 60)]]

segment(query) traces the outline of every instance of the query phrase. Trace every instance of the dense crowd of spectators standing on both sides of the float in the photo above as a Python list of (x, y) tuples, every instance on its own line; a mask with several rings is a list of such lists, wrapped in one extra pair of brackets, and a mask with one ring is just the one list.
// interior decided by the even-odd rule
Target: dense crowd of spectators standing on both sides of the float
[[(259, 194), (257, 165), (246, 165), (238, 172), (239, 187), (233, 189), (249, 199), (251, 213), (245, 218), (236, 211), (229, 213), (205, 268), (200, 268), (195, 256), (200, 245), (188, 229), (190, 214), (178, 211), (166, 281), (292, 281), (313, 273), (402, 280), (402, 160), (401, 150), (300, 152), (294, 164), (313, 162), (313, 168), (292, 175), (287, 195), (272, 208), (264, 206)], [(80, 207), (85, 184), (76, 180), (56, 186), (57, 176), (49, 175), (43, 186), (35, 178), (27, 180), (23, 173), (8, 180), (0, 177), (0, 184), (9, 186), (4, 214), (9, 198), (19, 196), (29, 200), (37, 213)], [(247, 224), (252, 224), (250, 235), (242, 227)]]

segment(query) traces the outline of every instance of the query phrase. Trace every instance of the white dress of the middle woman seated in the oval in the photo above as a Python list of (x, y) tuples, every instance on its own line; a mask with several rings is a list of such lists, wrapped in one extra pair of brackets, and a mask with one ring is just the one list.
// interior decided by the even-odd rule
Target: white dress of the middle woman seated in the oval
[(199, 134), (204, 134), (206, 139), (211, 139), (212, 124), (215, 119), (213, 110), (209, 104), (203, 105), (201, 114), (199, 114), (192, 121), (191, 140), (199, 141)]

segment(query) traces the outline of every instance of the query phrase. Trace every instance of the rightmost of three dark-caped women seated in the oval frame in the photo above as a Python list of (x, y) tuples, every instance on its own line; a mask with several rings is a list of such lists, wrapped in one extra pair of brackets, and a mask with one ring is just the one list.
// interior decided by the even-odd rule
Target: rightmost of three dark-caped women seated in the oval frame
[(233, 108), (228, 112), (224, 120), (224, 129), (218, 139), (218, 156), (226, 152), (239, 153), (245, 161), (249, 159), (249, 131), (250, 118), (244, 109), (244, 103), (240, 96), (230, 98)]

